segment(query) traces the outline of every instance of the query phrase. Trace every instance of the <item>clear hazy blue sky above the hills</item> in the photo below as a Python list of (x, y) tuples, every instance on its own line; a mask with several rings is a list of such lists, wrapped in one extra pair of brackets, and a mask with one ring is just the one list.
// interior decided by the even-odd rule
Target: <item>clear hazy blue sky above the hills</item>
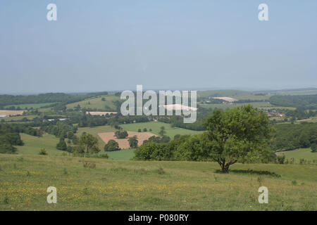
[[(51, 3), (56, 21), (46, 19)], [(316, 8), (316, 0), (1, 0), (0, 93), (317, 87)]]

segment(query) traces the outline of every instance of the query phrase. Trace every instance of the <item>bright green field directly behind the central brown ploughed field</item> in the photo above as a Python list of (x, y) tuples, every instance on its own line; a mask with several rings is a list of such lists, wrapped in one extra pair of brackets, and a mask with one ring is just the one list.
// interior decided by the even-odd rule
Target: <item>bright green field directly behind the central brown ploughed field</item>
[(120, 127), (122, 127), (126, 131), (137, 131), (138, 129), (142, 129), (143, 131), (144, 128), (147, 128), (147, 131), (149, 131), (149, 129), (152, 129), (152, 131), (150, 132), (156, 135), (159, 135), (161, 127), (165, 127), (166, 135), (169, 136), (170, 139), (173, 139), (176, 134), (185, 135), (201, 133), (201, 131), (192, 131), (190, 129), (171, 127), (170, 124), (166, 124), (163, 122), (139, 122), (133, 124), (120, 124)]

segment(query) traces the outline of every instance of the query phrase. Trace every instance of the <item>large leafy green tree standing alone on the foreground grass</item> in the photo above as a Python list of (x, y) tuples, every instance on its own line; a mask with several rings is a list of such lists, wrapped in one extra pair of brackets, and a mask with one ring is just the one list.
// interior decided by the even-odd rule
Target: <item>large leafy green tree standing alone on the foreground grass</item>
[(251, 105), (213, 111), (203, 125), (209, 139), (204, 144), (209, 148), (209, 158), (218, 162), (225, 173), (235, 162), (268, 162), (273, 155), (268, 148), (271, 122), (263, 111)]

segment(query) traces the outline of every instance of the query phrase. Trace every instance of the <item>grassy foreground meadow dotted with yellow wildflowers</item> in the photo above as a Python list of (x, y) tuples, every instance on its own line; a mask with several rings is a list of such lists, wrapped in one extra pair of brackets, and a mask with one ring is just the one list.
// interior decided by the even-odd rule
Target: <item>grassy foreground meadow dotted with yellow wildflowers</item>
[[(316, 166), (217, 169), (213, 162), (0, 155), (0, 210), (316, 210)], [(49, 186), (57, 204), (46, 203)], [(258, 203), (259, 186), (268, 187), (268, 204)]]

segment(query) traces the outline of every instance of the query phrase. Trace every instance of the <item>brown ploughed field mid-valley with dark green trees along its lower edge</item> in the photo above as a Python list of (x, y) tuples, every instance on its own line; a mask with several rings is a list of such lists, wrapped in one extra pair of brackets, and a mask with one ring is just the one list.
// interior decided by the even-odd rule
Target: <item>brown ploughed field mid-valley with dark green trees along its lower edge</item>
[(109, 140), (113, 139), (118, 142), (119, 148), (125, 149), (130, 148), (128, 139), (131, 136), (137, 136), (137, 143), (138, 146), (141, 146), (144, 140), (149, 139), (151, 136), (157, 136), (155, 134), (152, 134), (151, 132), (135, 132), (135, 131), (128, 131), (128, 138), (126, 139), (117, 139), (116, 136), (114, 136), (115, 132), (106, 132), (106, 133), (99, 133), (101, 140), (104, 141), (104, 143), (108, 143)]

